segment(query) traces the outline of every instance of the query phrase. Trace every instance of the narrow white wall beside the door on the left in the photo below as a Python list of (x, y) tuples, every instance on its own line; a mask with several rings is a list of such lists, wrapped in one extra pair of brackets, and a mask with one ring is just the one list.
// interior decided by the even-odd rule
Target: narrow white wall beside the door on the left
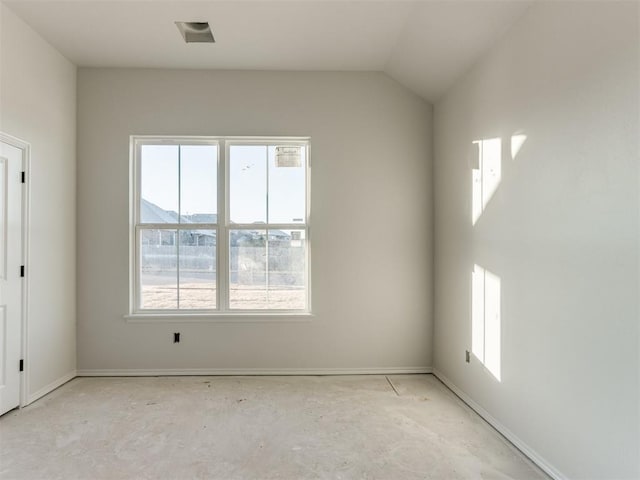
[(76, 362), (76, 68), (0, 5), (0, 131), (31, 144), (29, 396)]

